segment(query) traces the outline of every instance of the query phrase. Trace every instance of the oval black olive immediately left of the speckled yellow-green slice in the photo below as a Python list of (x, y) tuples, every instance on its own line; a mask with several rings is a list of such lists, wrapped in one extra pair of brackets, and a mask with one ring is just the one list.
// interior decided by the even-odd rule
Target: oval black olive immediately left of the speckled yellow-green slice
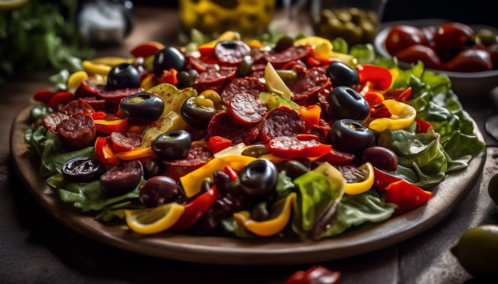
[(121, 114), (136, 124), (149, 124), (164, 111), (164, 101), (151, 93), (139, 92), (125, 97), (120, 103)]

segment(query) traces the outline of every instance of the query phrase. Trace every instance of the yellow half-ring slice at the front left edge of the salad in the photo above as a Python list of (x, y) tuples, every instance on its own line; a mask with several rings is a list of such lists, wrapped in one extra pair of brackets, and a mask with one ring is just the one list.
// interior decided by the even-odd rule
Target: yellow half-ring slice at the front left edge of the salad
[(169, 229), (183, 214), (185, 207), (169, 203), (155, 208), (125, 210), (126, 223), (140, 234), (155, 234)]

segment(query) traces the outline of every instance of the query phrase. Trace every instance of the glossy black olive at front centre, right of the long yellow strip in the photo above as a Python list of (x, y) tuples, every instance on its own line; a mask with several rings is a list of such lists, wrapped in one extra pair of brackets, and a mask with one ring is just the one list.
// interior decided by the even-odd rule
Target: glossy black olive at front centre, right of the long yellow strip
[(249, 196), (262, 196), (274, 190), (277, 168), (267, 159), (257, 159), (239, 172), (240, 186)]

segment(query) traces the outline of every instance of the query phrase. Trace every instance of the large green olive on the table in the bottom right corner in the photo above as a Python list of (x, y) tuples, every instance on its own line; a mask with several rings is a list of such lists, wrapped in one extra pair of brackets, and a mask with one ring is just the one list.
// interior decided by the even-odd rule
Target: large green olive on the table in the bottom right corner
[(451, 252), (473, 276), (498, 276), (498, 225), (467, 230)]

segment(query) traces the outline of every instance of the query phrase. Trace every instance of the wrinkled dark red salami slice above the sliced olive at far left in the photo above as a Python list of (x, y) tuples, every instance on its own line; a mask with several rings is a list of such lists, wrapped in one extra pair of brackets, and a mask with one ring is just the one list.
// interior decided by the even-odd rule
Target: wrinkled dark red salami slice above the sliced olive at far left
[(95, 138), (95, 124), (86, 113), (69, 116), (55, 129), (62, 143), (70, 149), (81, 149)]

